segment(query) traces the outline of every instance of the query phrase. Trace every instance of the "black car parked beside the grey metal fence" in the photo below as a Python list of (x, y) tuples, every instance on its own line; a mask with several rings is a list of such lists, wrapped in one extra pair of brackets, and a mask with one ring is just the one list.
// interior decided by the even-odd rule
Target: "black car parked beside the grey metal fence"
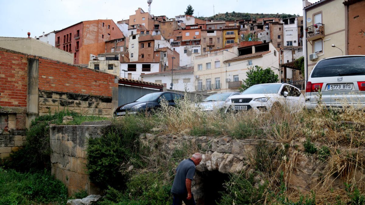
[(116, 108), (115, 116), (124, 116), (126, 114), (136, 114), (138, 112), (149, 112), (161, 107), (161, 100), (165, 99), (169, 105), (175, 106), (176, 100), (184, 98), (183, 95), (173, 92), (155, 92), (146, 94), (134, 102), (121, 105)]

